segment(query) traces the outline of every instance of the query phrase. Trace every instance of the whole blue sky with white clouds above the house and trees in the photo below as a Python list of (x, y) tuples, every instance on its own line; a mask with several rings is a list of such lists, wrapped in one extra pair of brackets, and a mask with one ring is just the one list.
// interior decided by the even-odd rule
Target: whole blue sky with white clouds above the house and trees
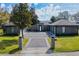
[[(1, 8), (6, 8), (10, 13), (12, 11), (13, 3), (1, 3)], [(52, 16), (57, 16), (59, 12), (69, 11), (75, 14), (79, 11), (79, 3), (31, 3), (30, 7), (35, 8), (38, 19), (41, 21), (48, 21)]]

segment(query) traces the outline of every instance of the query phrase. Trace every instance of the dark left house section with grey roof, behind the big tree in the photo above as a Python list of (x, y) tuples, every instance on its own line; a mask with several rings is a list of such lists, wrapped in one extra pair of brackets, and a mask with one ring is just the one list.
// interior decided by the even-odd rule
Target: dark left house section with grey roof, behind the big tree
[(18, 35), (20, 30), (13, 23), (5, 23), (3, 24), (3, 32), (4, 35)]

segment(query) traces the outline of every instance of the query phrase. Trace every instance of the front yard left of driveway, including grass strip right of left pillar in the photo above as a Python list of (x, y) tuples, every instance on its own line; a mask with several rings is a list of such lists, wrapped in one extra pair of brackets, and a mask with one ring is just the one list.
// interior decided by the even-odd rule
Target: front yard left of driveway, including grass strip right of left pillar
[[(19, 36), (2, 36), (2, 30), (0, 29), (0, 54), (15, 53), (18, 51), (18, 39)], [(28, 39), (23, 40), (23, 46), (26, 45)]]

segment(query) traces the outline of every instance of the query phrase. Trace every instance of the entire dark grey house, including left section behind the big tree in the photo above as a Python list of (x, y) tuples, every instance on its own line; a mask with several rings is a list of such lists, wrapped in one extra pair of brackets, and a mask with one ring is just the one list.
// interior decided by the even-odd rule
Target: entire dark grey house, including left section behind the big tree
[[(6, 35), (18, 35), (20, 30), (12, 23), (3, 25), (4, 34)], [(52, 32), (55, 35), (78, 35), (79, 23), (70, 22), (69, 20), (58, 20), (54, 23), (40, 22), (28, 28), (27, 31), (33, 32)]]

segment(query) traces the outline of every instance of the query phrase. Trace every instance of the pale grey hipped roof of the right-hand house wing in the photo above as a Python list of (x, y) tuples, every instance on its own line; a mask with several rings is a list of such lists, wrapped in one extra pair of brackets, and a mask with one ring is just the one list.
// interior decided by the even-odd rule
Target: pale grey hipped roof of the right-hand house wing
[(76, 22), (70, 22), (70, 21), (64, 20), (64, 19), (58, 20), (58, 21), (56, 21), (52, 24), (49, 24), (49, 25), (53, 25), (53, 26), (79, 26), (79, 24)]

